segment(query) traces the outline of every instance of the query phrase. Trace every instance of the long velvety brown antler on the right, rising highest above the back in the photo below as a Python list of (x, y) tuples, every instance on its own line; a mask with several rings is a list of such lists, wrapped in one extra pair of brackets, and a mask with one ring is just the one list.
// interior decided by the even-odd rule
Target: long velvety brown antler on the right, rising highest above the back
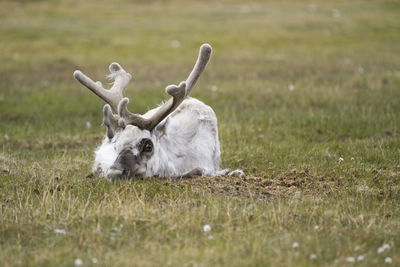
[(211, 57), (212, 48), (209, 44), (203, 44), (200, 47), (199, 57), (193, 67), (192, 72), (186, 79), (186, 82), (181, 82), (179, 86), (169, 85), (165, 91), (172, 96), (157, 112), (149, 119), (144, 118), (139, 114), (134, 114), (128, 111), (126, 106), (129, 103), (128, 98), (124, 98), (118, 105), (118, 114), (120, 116), (119, 125), (125, 127), (127, 124), (135, 125), (149, 131), (153, 130), (163, 119), (171, 114), (193, 90), (194, 85), (199, 79), (207, 66)]

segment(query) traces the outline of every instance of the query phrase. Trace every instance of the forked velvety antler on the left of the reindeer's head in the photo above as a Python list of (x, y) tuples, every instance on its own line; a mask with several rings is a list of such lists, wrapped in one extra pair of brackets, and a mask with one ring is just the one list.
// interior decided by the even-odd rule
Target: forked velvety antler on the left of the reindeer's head
[(110, 64), (109, 70), (111, 74), (108, 77), (114, 80), (114, 84), (109, 90), (104, 89), (101, 82), (94, 82), (80, 70), (74, 72), (74, 77), (77, 81), (108, 103), (114, 113), (117, 113), (118, 104), (123, 98), (123, 92), (128, 86), (132, 76), (127, 73), (121, 65), (115, 62)]

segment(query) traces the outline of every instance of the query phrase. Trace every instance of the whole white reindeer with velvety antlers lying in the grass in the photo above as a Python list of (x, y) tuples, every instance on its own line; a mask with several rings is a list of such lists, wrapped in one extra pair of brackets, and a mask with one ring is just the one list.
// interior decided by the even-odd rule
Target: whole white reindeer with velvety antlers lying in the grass
[(220, 165), (217, 118), (211, 107), (189, 97), (210, 57), (211, 46), (200, 47), (197, 62), (186, 81), (169, 85), (172, 96), (143, 115), (127, 109), (123, 92), (131, 80), (118, 63), (109, 66), (114, 80), (106, 90), (79, 70), (74, 77), (107, 104), (103, 122), (107, 127), (95, 151), (93, 171), (110, 181), (132, 177), (185, 177), (215, 175)]

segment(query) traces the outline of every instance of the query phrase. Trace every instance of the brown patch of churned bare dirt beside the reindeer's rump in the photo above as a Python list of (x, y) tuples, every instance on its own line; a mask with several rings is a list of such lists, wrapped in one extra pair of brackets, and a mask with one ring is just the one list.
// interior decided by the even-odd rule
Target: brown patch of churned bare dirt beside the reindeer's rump
[(194, 192), (208, 191), (234, 197), (252, 199), (275, 199), (298, 197), (301, 194), (315, 194), (320, 190), (336, 190), (340, 179), (312, 176), (307, 170), (291, 170), (276, 178), (252, 175), (197, 177), (191, 179), (168, 179), (168, 185), (180, 188), (190, 187)]

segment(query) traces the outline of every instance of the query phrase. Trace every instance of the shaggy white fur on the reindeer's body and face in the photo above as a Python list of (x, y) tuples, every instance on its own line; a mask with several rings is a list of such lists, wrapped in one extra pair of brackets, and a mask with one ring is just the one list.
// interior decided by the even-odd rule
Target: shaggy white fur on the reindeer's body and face
[[(157, 110), (143, 116), (151, 117)], [(142, 138), (149, 138), (154, 144), (145, 177), (179, 177), (196, 168), (202, 169), (203, 175), (213, 176), (219, 170), (217, 118), (209, 106), (194, 98), (185, 99), (152, 132), (128, 125), (111, 140), (105, 137), (95, 152), (93, 170), (107, 176), (121, 150), (134, 146)]]

